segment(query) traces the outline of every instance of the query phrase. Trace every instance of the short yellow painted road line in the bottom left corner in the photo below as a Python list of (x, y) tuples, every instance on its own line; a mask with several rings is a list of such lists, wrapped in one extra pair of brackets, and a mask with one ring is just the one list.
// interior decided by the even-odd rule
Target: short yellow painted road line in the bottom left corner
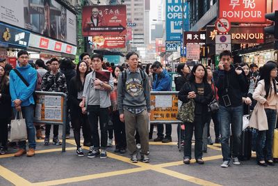
[(16, 173), (6, 169), (5, 167), (0, 165), (0, 176), (8, 180), (10, 183), (19, 186), (28, 186), (31, 185), (31, 182), (25, 180), (24, 178), (18, 176)]

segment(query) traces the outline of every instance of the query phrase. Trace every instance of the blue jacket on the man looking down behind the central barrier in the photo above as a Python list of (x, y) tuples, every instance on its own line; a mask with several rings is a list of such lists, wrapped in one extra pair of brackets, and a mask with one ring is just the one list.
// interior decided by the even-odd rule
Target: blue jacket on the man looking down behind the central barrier
[(152, 91), (171, 91), (171, 77), (167, 70), (163, 70), (161, 75), (156, 75)]

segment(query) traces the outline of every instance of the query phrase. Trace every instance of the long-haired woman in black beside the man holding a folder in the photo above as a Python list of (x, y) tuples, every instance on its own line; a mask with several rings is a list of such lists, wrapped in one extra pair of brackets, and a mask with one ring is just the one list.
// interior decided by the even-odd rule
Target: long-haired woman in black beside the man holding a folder
[[(70, 117), (72, 121), (72, 128), (74, 130), (74, 139), (77, 146), (76, 154), (84, 156), (83, 149), (80, 144), (80, 129), (82, 127), (83, 134), (89, 132), (90, 125), (87, 115), (81, 110), (82, 94), (84, 88), (85, 77), (88, 73), (88, 65), (85, 61), (81, 61), (76, 67), (76, 76), (70, 80), (68, 100), (70, 103)], [(90, 141), (92, 142), (92, 141)]]

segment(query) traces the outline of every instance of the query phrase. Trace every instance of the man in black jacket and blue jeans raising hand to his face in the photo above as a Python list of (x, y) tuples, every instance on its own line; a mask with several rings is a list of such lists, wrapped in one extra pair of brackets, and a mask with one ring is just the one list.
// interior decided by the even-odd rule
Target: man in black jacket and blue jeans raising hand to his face
[[(220, 54), (219, 72), (216, 80), (219, 95), (220, 133), (223, 163), (221, 167), (227, 168), (230, 161), (239, 165), (238, 160), (241, 134), (243, 130), (243, 94), (248, 90), (242, 68), (231, 65), (231, 52), (224, 50)], [(232, 155), (229, 148), (230, 123), (232, 141)], [(230, 144), (230, 145), (231, 145)]]

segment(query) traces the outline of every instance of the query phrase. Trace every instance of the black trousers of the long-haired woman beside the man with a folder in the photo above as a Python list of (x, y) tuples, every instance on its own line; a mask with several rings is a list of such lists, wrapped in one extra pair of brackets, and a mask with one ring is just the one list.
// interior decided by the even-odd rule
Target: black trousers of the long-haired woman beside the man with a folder
[[(71, 121), (72, 121), (72, 129), (74, 130), (74, 140), (75, 140), (76, 146), (81, 147), (81, 144), (80, 144), (81, 127), (82, 127), (84, 141), (85, 140), (91, 141), (92, 135), (90, 135), (90, 125), (89, 125), (88, 117), (86, 114), (81, 113), (81, 109), (79, 109), (79, 114), (71, 114)], [(84, 132), (86, 132), (85, 135), (84, 135)], [(85, 137), (87, 137), (87, 139), (85, 139)]]

